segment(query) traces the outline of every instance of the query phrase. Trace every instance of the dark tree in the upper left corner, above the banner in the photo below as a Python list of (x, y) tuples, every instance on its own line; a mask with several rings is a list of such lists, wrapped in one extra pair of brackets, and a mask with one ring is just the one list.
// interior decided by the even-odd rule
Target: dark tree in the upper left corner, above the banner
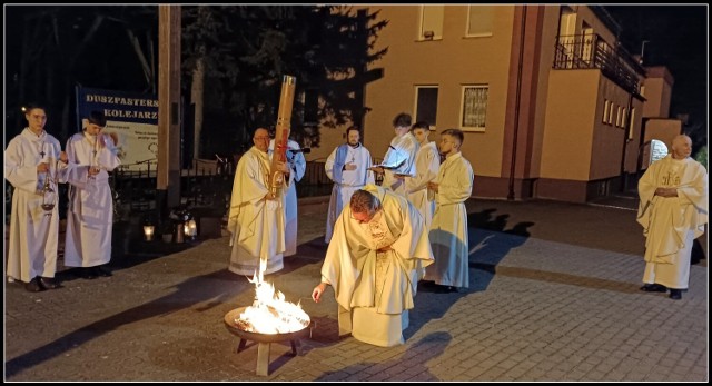
[[(6, 107), (14, 112), (6, 117), (6, 123), (10, 123), (7, 126), (21, 127), (20, 105), (44, 101), (50, 112), (50, 128), (61, 140), (77, 129), (72, 109), (75, 85), (127, 90), (136, 87), (140, 73), (147, 76), (148, 83), (155, 85), (155, 77), (149, 76), (150, 71), (147, 73), (149, 61), (144, 58), (141, 62), (140, 56), (136, 56), (140, 48), (137, 31), (147, 31), (147, 39), (155, 36), (155, 28), (151, 34), (146, 24), (156, 19), (154, 8), (7, 7), (8, 28), (20, 34), (8, 39), (12, 43), (6, 52), (9, 89)], [(150, 49), (149, 43), (149, 52)], [(141, 87), (147, 89), (146, 86)]]

